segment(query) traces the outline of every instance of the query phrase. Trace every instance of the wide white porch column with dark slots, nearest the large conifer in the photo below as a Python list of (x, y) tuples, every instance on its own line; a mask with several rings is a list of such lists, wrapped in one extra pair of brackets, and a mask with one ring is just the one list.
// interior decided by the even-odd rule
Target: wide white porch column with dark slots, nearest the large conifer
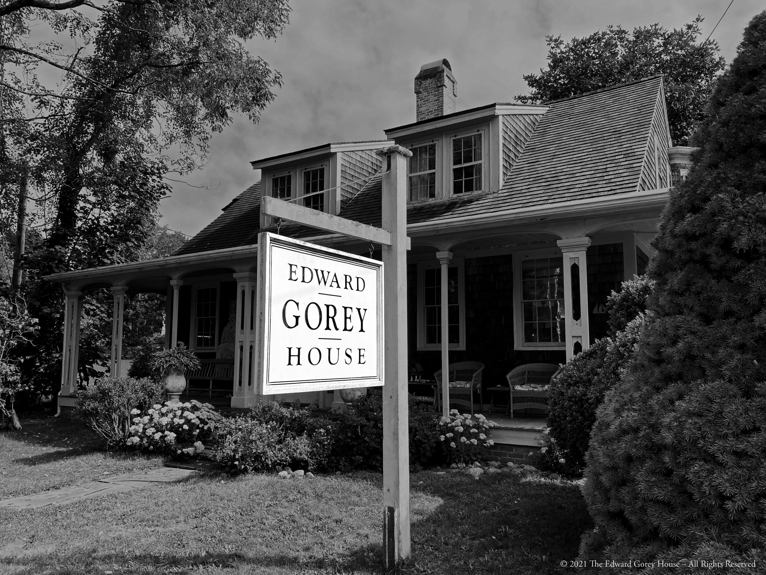
[(591, 238), (558, 240), (564, 257), (564, 313), (567, 361), (591, 347), (588, 327), (588, 246)]

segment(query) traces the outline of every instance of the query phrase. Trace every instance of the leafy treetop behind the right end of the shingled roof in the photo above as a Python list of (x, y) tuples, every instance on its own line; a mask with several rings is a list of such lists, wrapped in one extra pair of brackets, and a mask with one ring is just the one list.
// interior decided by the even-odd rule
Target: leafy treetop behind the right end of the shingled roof
[(663, 74), (670, 137), (676, 146), (687, 146), (724, 67), (715, 40), (697, 40), (701, 25), (698, 16), (680, 30), (653, 24), (631, 33), (619, 25), (607, 26), (566, 43), (561, 36), (547, 36), (548, 68), (526, 74), (532, 91), (516, 100), (538, 104)]

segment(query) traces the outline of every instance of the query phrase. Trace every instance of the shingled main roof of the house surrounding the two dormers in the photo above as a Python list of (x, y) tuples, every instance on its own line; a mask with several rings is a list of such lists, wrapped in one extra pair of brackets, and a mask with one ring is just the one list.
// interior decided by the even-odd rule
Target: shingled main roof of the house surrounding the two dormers
[[(637, 191), (660, 94), (662, 77), (656, 76), (548, 102), (549, 110), (499, 192), (409, 205), (408, 223)], [(380, 227), (381, 193), (381, 176), (377, 176), (339, 215)], [(259, 216), (257, 183), (175, 253), (257, 243)], [(306, 237), (317, 231), (290, 225), (282, 233)]]

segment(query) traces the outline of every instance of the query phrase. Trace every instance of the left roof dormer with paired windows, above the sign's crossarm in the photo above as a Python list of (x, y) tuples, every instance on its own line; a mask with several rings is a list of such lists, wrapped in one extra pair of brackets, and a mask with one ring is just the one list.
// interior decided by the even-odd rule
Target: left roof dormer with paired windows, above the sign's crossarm
[[(250, 162), (260, 169), (261, 195), (338, 215), (382, 166), (376, 149), (388, 140), (335, 142)], [(270, 218), (260, 216), (262, 228)]]

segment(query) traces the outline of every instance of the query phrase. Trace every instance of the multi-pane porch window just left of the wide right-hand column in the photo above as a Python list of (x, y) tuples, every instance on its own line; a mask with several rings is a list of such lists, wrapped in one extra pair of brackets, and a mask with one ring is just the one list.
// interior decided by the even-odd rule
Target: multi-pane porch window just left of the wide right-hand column
[(522, 260), (522, 315), (525, 343), (563, 343), (563, 258)]

